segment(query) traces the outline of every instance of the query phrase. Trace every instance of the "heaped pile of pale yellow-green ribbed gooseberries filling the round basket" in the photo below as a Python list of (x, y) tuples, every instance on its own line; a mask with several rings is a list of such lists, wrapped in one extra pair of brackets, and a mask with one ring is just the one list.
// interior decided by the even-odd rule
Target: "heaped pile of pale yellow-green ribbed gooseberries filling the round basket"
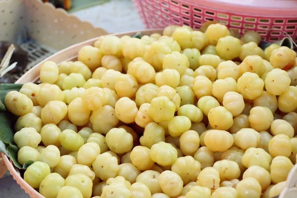
[(271, 198), (297, 155), (296, 53), (221, 24), (102, 36), (5, 97), (46, 198)]

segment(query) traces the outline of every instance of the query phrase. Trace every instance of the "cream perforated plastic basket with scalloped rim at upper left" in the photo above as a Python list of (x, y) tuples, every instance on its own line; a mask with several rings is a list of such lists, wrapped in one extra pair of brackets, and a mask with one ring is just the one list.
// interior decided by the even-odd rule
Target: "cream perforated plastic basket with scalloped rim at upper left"
[(0, 41), (10, 41), (29, 53), (29, 64), (17, 80), (51, 54), (105, 35), (102, 28), (69, 15), (41, 0), (0, 0)]

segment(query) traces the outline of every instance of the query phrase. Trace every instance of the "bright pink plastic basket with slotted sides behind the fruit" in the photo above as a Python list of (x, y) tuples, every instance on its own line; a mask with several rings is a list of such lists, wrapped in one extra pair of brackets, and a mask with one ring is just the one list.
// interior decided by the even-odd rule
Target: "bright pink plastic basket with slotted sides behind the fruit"
[[(254, 30), (268, 42), (290, 35), (297, 42), (297, 0), (133, 0), (147, 28), (216, 20), (245, 33)], [(273, 30), (272, 30), (273, 29)]]

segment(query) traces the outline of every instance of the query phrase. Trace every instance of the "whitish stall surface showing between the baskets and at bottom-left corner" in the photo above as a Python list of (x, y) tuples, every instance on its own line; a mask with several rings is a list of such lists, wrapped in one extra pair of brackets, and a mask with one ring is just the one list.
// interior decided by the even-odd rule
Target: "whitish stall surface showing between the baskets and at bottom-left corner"
[[(145, 29), (131, 0), (110, 0), (72, 14), (109, 33)], [(0, 198), (29, 198), (10, 175), (0, 179), (0, 192)]]

